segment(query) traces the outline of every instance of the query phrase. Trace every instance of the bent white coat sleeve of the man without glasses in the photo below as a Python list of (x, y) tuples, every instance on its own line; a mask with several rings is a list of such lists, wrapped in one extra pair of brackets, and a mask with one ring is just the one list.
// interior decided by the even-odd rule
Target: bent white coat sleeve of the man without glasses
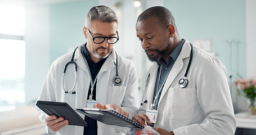
[(174, 134), (234, 134), (236, 119), (224, 65), (212, 57), (197, 68), (196, 71), (191, 70), (191, 75), (205, 119), (201, 123), (176, 128)]

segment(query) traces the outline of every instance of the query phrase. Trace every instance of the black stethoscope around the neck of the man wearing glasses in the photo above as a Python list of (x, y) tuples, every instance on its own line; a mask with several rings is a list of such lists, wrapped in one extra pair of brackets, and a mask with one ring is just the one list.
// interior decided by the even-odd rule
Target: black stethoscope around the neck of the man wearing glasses
[[(75, 48), (71, 60), (64, 67), (63, 78), (62, 78), (62, 86), (63, 86), (63, 89), (64, 89), (65, 93), (72, 92), (75, 88), (75, 84), (77, 84), (77, 63), (74, 61), (75, 51), (77, 50), (77, 48)], [(81, 52), (82, 52), (82, 55), (83, 55), (83, 47), (81, 47)], [(116, 52), (115, 52), (115, 55), (116, 55), (116, 77), (113, 79), (113, 84), (115, 84), (115, 86), (119, 86), (122, 81), (118, 77), (118, 55), (116, 54)], [(75, 82), (74, 82), (73, 87), (70, 90), (66, 90), (65, 87), (64, 87), (64, 77), (65, 77), (66, 69), (67, 69), (69, 64), (74, 64), (75, 65)], [(87, 62), (86, 62), (86, 64), (87, 64)], [(87, 64), (87, 66), (88, 66), (88, 64)], [(88, 67), (88, 69), (89, 69), (89, 67)], [(91, 73), (90, 73), (90, 76), (91, 76)], [(95, 82), (96, 82), (96, 79), (97, 79), (97, 77), (95, 78)], [(91, 82), (92, 82), (92, 79), (91, 79)], [(93, 86), (95, 85), (95, 82), (91, 83), (91, 86), (92, 86), (91, 91), (93, 91)], [(76, 93), (75, 91), (72, 92), (72, 94), (75, 94), (75, 93)], [(91, 92), (91, 94), (92, 94), (92, 92)]]

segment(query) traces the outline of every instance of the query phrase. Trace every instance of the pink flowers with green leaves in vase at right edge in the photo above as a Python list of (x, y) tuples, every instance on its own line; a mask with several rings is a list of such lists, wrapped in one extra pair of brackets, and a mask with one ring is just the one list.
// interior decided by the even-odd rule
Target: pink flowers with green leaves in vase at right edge
[(256, 80), (250, 79), (237, 79), (235, 80), (235, 86), (238, 88), (239, 95), (242, 95), (250, 101), (247, 112), (252, 115), (256, 115)]

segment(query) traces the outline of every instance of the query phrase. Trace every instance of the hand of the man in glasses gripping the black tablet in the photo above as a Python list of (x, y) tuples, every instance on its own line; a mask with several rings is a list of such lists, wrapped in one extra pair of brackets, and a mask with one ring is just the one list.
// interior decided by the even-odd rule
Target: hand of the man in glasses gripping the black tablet
[(46, 125), (53, 132), (59, 131), (61, 128), (69, 124), (69, 120), (64, 120), (63, 117), (57, 118), (55, 115), (46, 116)]

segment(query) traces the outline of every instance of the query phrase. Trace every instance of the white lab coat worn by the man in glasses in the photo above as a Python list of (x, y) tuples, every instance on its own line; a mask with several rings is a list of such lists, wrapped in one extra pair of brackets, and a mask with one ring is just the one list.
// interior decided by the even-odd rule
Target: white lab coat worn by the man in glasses
[[(62, 76), (64, 66), (71, 60), (73, 52), (70, 52), (64, 56), (59, 57), (53, 62), (46, 80), (44, 81), (41, 95), (38, 100), (44, 101), (56, 101), (56, 102), (67, 102), (73, 109), (86, 107), (87, 94), (90, 85), (89, 70), (84, 60), (81, 47), (75, 51), (74, 61), (77, 62), (77, 84), (75, 85), (74, 91), (76, 94), (66, 94), (62, 88)], [(120, 86), (114, 86), (113, 79), (116, 77), (116, 55), (115, 51), (107, 57), (106, 61), (102, 65), (97, 78), (96, 86), (96, 100), (100, 104), (115, 104), (122, 106), (124, 111), (129, 113), (129, 118), (138, 113), (140, 105), (138, 97), (138, 82), (137, 82), (137, 71), (135, 66), (124, 57), (118, 55), (118, 77), (122, 80)], [(73, 87), (75, 80), (75, 68), (74, 64), (68, 66), (65, 74), (65, 89), (69, 90)], [(82, 118), (84, 115), (78, 113)], [(39, 119), (45, 123), (46, 114), (38, 109)], [(109, 125), (98, 124), (98, 134), (115, 134), (113, 128)], [(62, 128), (59, 132), (52, 132), (47, 127), (49, 134), (83, 134), (83, 127), (67, 125)]]

